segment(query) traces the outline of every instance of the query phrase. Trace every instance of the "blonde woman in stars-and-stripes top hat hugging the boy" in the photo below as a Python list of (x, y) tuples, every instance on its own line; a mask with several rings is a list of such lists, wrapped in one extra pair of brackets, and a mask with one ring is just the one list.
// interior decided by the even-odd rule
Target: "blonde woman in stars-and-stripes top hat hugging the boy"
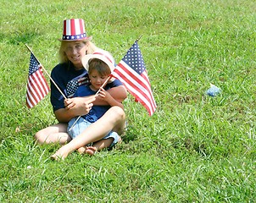
[[(83, 67), (81, 58), (97, 50), (91, 40), (92, 36), (86, 36), (83, 19), (64, 20), (63, 37), (59, 40), (61, 41), (59, 48), (60, 63), (54, 67), (51, 74), (54, 83), (58, 85), (57, 88), (51, 81), (51, 103), (58, 123), (38, 131), (35, 134), (35, 139), (38, 143), (58, 142), (63, 145), (70, 142), (71, 138), (67, 134), (67, 127), (71, 118), (86, 115), (93, 104), (108, 105), (108, 102), (95, 96), (72, 98), (79, 85), (89, 82), (87, 71)], [(59, 90), (63, 92), (65, 98)], [(127, 96), (123, 85), (111, 88), (108, 92), (118, 102), (122, 102)], [(86, 138), (85, 143), (87, 144), (101, 140), (111, 130), (122, 134), (124, 128), (124, 110), (121, 107), (111, 107), (102, 118), (93, 123), (82, 134)], [(77, 136), (77, 138), (79, 137), (80, 135)], [(75, 140), (76, 138), (72, 141)], [(80, 147), (80, 145), (76, 145), (76, 141), (73, 144), (72, 149)], [(54, 156), (64, 158), (67, 154), (63, 150), (59, 150)]]

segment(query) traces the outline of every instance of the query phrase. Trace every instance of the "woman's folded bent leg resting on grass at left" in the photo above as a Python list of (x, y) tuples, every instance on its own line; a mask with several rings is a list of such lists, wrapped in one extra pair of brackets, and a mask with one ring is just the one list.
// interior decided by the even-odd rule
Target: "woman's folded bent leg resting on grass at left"
[(35, 134), (35, 140), (39, 144), (59, 143), (64, 145), (71, 140), (67, 134), (67, 123), (57, 123), (45, 129), (41, 129)]

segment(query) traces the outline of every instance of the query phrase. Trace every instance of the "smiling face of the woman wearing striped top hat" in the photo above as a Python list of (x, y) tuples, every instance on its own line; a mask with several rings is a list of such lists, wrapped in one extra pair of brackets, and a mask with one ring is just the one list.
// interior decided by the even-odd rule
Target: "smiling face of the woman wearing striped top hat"
[(84, 41), (67, 42), (65, 53), (70, 62), (74, 64), (75, 69), (83, 69), (81, 58), (86, 55), (87, 47)]

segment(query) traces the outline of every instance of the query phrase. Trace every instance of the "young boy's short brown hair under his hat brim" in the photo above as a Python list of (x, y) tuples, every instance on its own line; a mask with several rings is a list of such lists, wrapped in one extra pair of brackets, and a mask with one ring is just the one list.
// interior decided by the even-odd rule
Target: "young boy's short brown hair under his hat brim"
[(101, 76), (109, 75), (111, 74), (111, 70), (109, 69), (109, 66), (107, 63), (104, 63), (102, 60), (97, 58), (92, 58), (88, 62), (88, 74), (92, 74), (92, 70), (97, 70), (97, 73)]

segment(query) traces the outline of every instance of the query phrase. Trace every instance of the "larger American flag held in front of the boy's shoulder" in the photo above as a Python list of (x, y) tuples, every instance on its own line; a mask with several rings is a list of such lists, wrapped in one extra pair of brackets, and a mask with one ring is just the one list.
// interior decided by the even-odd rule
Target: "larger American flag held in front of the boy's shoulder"
[(135, 96), (136, 102), (140, 102), (146, 107), (147, 112), (152, 116), (157, 105), (153, 98), (147, 77), (147, 69), (137, 41), (131, 46), (120, 63), (117, 64), (112, 75), (125, 85), (131, 95)]

